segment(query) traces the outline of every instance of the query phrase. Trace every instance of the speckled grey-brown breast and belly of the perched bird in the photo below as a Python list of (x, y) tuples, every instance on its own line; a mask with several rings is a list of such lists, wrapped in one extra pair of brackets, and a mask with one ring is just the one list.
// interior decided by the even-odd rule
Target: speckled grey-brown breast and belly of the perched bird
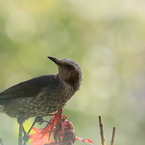
[(24, 113), (24, 118), (49, 115), (65, 106), (75, 90), (68, 84), (45, 88), (40, 96), (12, 99), (6, 106), (5, 112), (12, 117)]

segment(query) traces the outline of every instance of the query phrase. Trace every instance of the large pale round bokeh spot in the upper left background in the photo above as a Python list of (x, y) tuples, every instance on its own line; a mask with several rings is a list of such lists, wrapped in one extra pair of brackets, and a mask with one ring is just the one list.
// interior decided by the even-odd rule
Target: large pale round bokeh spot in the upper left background
[(6, 22), (6, 33), (13, 41), (29, 41), (36, 32), (34, 18), (25, 11), (10, 14)]

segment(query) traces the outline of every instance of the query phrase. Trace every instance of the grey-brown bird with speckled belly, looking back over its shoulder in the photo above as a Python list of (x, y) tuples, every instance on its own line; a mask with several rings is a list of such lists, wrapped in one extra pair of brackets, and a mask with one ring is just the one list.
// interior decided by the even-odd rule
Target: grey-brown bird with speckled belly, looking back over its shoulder
[(35, 77), (1, 92), (0, 112), (23, 123), (30, 117), (47, 116), (66, 105), (80, 88), (81, 68), (72, 59), (48, 58), (58, 66), (58, 73)]

